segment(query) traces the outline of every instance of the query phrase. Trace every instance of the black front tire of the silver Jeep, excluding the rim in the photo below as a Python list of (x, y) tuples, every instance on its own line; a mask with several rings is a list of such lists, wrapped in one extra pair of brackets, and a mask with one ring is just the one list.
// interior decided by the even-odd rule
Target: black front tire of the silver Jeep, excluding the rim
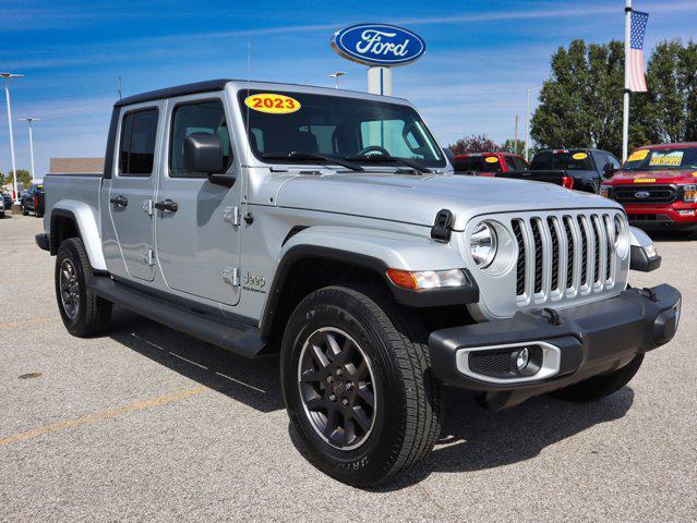
[[(300, 394), (302, 346), (311, 333), (326, 327), (350, 335), (375, 375), (372, 430), (351, 450), (322, 439)], [(320, 289), (302, 300), (286, 326), (281, 387), (301, 451), (314, 466), (343, 483), (369, 488), (414, 470), (426, 458), (441, 430), (443, 400), (425, 341), (419, 318), (386, 293), (351, 284)]]

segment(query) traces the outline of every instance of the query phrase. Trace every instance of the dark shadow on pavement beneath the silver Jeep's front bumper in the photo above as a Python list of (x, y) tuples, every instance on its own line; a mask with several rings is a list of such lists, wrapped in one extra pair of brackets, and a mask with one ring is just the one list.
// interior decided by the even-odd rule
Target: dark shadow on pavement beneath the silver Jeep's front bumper
[(408, 487), (432, 472), (481, 471), (534, 458), (594, 425), (622, 418), (634, 402), (634, 390), (625, 387), (590, 403), (541, 396), (501, 412), (483, 409), (474, 400), (472, 392), (446, 388), (443, 430), (424, 466), (381, 491)]

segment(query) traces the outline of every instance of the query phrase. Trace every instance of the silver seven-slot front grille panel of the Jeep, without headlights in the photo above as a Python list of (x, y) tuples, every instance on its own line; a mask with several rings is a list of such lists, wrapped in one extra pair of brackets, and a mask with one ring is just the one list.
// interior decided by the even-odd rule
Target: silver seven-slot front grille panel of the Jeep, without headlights
[[(498, 254), (478, 268), (471, 235), (482, 221), (497, 231)], [(621, 208), (488, 214), (468, 220), (456, 238), (479, 287), (479, 302), (468, 305), (479, 321), (605, 300), (624, 291), (629, 276), (629, 224)]]

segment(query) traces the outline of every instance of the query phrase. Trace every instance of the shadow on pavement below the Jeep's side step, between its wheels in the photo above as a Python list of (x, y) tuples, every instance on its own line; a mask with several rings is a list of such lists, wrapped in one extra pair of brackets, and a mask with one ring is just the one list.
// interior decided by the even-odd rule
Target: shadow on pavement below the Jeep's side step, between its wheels
[(115, 308), (110, 338), (260, 412), (284, 409), (278, 356), (248, 360), (136, 314)]

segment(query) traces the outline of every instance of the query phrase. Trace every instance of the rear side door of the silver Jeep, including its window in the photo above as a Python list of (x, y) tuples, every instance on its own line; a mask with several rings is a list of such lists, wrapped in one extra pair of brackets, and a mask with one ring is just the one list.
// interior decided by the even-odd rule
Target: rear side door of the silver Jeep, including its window
[[(149, 211), (157, 172), (158, 125), (163, 102), (121, 114), (118, 166), (109, 188), (109, 216), (129, 276), (155, 278), (153, 218)], [(160, 133), (161, 134), (161, 133)], [(161, 139), (161, 138), (160, 138)]]

